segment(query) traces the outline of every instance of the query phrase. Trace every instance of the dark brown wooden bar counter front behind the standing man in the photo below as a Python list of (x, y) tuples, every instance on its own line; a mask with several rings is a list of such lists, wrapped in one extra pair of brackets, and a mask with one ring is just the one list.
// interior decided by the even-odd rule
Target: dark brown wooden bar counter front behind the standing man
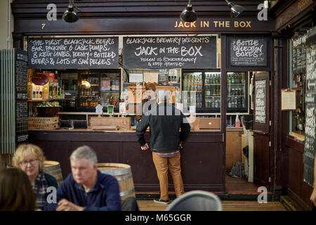
[[(120, 134), (118, 134), (120, 133)], [(145, 134), (149, 141), (149, 133)], [(185, 191), (225, 192), (225, 146), (219, 131), (192, 131), (181, 152)], [(96, 150), (98, 162), (131, 165), (136, 191), (159, 191), (152, 153), (143, 151), (135, 131), (91, 131), (88, 129), (29, 131), (29, 143), (40, 146), (47, 160), (60, 162), (62, 176), (70, 173), (70, 155), (79, 146)], [(169, 176), (169, 182), (172, 179)], [(174, 191), (173, 184), (169, 184)]]

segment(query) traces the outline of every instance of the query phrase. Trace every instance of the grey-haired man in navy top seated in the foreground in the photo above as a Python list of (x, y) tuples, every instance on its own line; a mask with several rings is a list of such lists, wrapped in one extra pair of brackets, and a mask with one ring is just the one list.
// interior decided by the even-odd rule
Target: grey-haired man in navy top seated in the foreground
[(119, 211), (119, 183), (114, 176), (98, 171), (94, 150), (81, 146), (70, 156), (72, 173), (57, 190), (57, 204), (46, 203), (44, 210)]

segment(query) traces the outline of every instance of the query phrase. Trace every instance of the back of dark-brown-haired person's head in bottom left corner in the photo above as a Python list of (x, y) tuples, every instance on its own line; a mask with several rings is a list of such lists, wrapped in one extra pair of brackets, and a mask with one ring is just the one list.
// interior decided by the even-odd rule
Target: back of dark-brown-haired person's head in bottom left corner
[(0, 211), (34, 211), (35, 199), (25, 172), (0, 169)]

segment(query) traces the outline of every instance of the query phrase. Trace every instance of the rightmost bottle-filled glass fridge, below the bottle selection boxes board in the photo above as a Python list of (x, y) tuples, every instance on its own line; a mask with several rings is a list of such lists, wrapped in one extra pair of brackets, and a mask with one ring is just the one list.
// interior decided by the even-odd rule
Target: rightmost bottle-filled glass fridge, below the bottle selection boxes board
[(244, 72), (228, 72), (227, 104), (228, 108), (246, 107), (246, 75)]

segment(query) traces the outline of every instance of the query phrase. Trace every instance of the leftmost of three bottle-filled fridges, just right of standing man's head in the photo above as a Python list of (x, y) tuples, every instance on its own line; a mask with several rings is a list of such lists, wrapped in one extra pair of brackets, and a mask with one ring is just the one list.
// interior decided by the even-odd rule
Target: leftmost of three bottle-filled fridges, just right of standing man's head
[(187, 106), (195, 105), (197, 108), (202, 108), (202, 87), (202, 72), (183, 73), (183, 91), (187, 91), (187, 95), (184, 95), (185, 98), (183, 98), (183, 101), (187, 102)]

